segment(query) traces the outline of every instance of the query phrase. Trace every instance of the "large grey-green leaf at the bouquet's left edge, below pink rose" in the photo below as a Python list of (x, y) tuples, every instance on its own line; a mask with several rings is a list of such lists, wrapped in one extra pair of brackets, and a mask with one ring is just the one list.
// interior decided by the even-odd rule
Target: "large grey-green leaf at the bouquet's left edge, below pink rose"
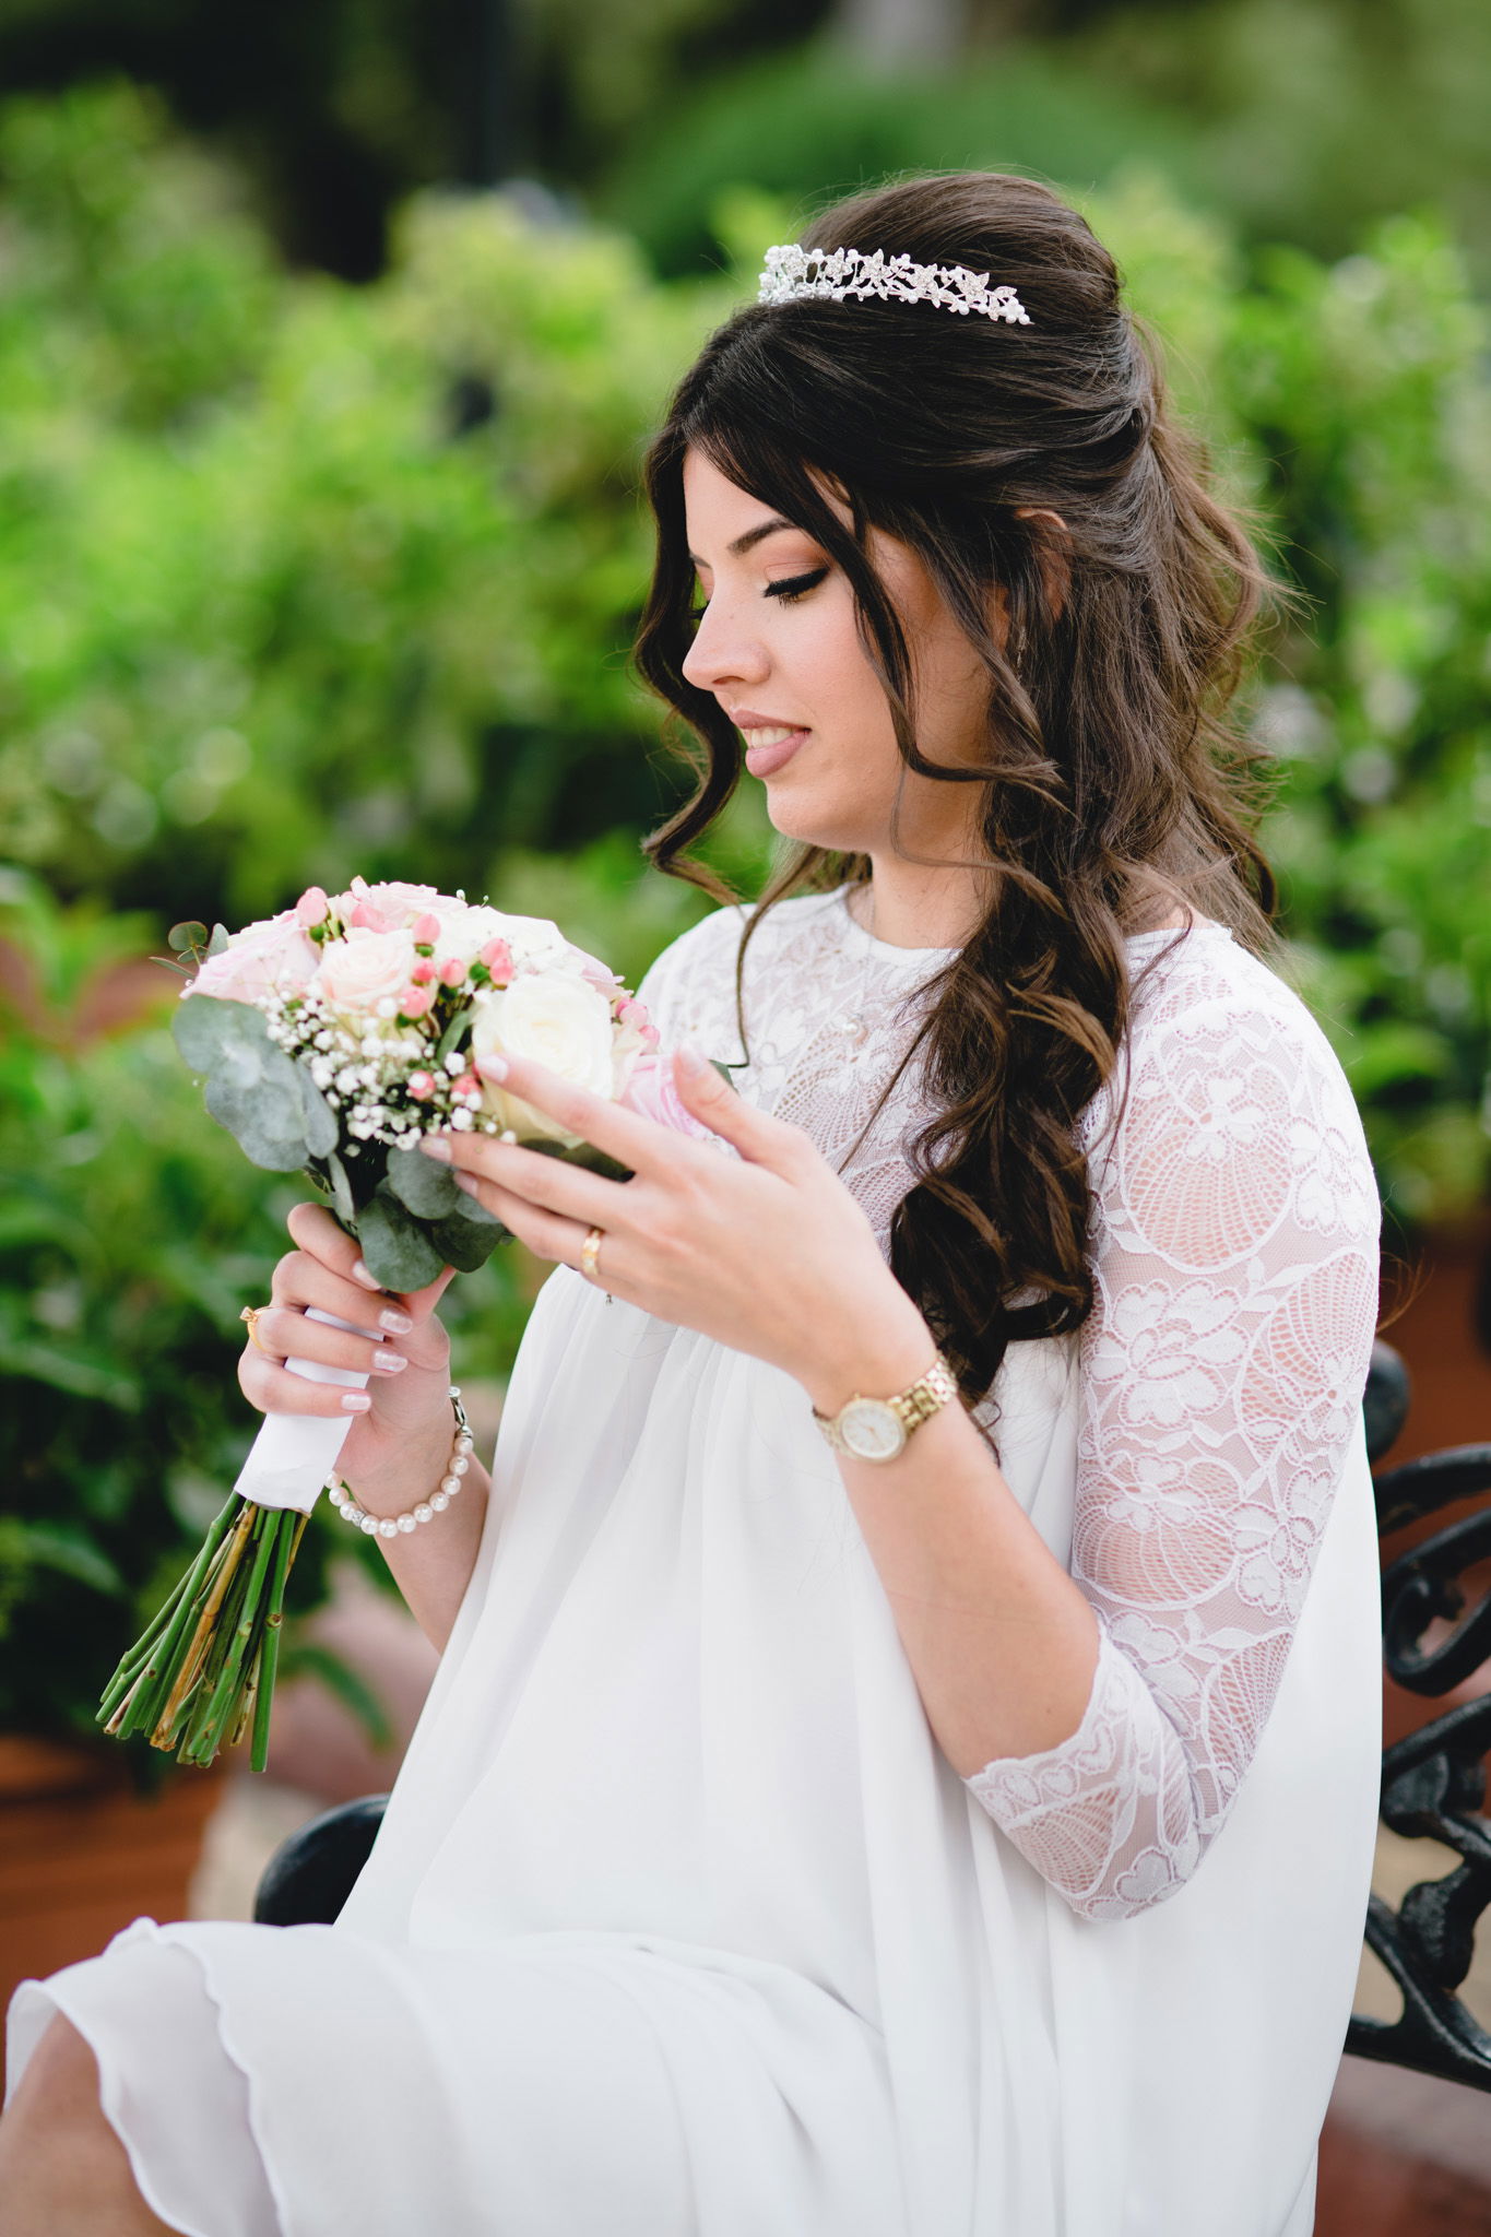
[(206, 1105), (266, 1172), (297, 1172), (338, 1148), (338, 1121), (304, 1065), (268, 1038), (250, 1002), (194, 995), (172, 1020), (192, 1072), (206, 1072)]

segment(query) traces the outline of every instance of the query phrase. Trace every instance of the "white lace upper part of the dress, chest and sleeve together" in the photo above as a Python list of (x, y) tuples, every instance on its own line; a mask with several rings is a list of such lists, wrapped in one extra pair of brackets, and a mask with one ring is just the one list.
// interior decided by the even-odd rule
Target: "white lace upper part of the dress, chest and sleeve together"
[[(648, 971), (664, 1045), (744, 1058), (742, 922), (715, 910)], [(735, 1085), (811, 1134), (883, 1250), (925, 1121), (919, 1060), (856, 1139), (950, 953), (872, 940), (845, 888), (778, 902), (747, 951)], [(1073, 1340), (1071, 1573), (1098, 1667), (1077, 1731), (968, 1778), (1098, 1919), (1171, 1895), (1225, 1823), (1361, 1436), (1377, 1318), (1373, 1168), (1305, 1007), (1221, 926), (1140, 935), (1129, 960), (1124, 1063), (1084, 1114), (1095, 1306)]]

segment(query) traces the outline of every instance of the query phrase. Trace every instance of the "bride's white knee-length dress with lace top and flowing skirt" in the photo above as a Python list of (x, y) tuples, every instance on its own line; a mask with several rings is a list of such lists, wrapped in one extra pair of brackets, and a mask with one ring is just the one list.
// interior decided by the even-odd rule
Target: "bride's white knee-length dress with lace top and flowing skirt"
[[(744, 1054), (740, 922), (644, 980), (664, 1045)], [(843, 1163), (946, 953), (778, 904), (740, 1092)], [(554, 1268), (338, 1924), (136, 1919), (16, 1993), (7, 2087), (69, 2013), (190, 2237), (1305, 2237), (1377, 1816), (1377, 1192), (1263, 964), (1131, 964), (1098, 1306), (995, 1387), (1100, 1617), (1069, 1740), (959, 1778), (803, 1387)], [(883, 1246), (919, 1110), (845, 1168)]]

